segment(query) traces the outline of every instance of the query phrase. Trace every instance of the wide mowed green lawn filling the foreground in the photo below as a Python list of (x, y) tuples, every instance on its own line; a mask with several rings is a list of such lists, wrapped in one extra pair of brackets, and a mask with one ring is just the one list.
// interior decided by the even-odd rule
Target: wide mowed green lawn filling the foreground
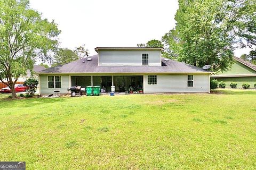
[(27, 169), (255, 169), (256, 90), (0, 99), (0, 160)]

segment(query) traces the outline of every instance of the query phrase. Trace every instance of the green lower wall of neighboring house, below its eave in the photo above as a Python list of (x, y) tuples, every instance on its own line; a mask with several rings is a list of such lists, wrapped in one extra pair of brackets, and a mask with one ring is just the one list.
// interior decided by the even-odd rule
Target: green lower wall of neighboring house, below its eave
[(256, 83), (256, 75), (255, 77), (233, 77), (233, 78), (214, 78), (217, 79), (218, 82), (223, 81), (226, 83), (226, 88), (230, 88), (229, 84), (231, 82), (237, 83), (237, 88), (242, 88), (242, 83), (249, 83), (250, 88), (254, 88), (254, 84)]

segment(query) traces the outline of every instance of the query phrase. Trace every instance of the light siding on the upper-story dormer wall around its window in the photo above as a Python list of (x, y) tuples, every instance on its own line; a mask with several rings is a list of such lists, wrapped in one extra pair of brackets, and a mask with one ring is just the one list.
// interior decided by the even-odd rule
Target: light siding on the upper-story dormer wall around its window
[(142, 66), (142, 53), (149, 54), (149, 66), (161, 66), (161, 50), (99, 50), (99, 66)]

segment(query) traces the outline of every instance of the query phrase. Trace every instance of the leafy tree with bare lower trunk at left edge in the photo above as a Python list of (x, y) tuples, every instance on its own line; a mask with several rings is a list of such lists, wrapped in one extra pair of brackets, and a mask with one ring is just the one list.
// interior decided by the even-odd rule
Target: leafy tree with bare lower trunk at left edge
[[(26, 0), (0, 0), (0, 80), (11, 89), (20, 75), (32, 71), (37, 56), (49, 60), (60, 31), (54, 21), (41, 18)], [(7, 82), (4, 81), (6, 79)]]

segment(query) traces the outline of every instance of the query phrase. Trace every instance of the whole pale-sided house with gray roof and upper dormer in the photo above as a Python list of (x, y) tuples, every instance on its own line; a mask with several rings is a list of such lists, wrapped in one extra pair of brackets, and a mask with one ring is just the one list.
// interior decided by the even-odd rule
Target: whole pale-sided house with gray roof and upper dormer
[(161, 57), (162, 48), (97, 47), (98, 55), (37, 72), (39, 93), (68, 94), (72, 86), (100, 86), (101, 91), (210, 92), (212, 72)]

